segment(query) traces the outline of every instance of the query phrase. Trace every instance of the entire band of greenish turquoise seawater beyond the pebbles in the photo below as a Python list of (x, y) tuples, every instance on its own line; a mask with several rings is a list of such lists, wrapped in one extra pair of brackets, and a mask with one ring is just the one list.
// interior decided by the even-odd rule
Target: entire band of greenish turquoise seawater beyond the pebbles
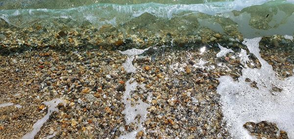
[[(200, 25), (218, 32), (223, 31), (224, 24), (233, 22), (238, 24), (238, 31), (249, 38), (273, 34), (292, 35), (294, 31), (293, 0), (114, 1), (117, 0), (18, 0), (17, 3), (21, 4), (12, 4), (7, 0), (1, 2), (0, 18), (20, 27), (32, 23), (46, 24), (55, 19), (70, 19), (76, 22), (74, 24), (90, 22), (100, 28), (105, 24), (120, 26), (149, 13), (165, 20), (193, 15)], [(64, 6), (62, 3), (67, 4)], [(222, 22), (216, 21), (217, 18)]]

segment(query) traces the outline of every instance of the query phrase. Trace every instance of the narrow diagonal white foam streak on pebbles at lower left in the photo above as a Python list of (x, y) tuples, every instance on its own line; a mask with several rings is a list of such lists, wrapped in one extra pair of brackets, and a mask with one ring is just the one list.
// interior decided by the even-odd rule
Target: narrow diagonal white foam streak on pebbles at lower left
[(66, 106), (66, 102), (64, 100), (62, 100), (62, 99), (59, 99), (59, 98), (54, 98), (54, 99), (52, 99), (51, 101), (48, 101), (48, 102), (44, 101), (43, 104), (48, 106), (47, 114), (43, 118), (39, 119), (36, 123), (34, 123), (33, 130), (31, 132), (25, 134), (25, 136), (22, 139), (34, 139), (34, 137), (40, 131), (43, 124), (49, 119), (49, 116), (53, 112), (58, 112), (58, 108), (56, 108), (56, 107), (60, 103), (62, 103), (63, 106)]

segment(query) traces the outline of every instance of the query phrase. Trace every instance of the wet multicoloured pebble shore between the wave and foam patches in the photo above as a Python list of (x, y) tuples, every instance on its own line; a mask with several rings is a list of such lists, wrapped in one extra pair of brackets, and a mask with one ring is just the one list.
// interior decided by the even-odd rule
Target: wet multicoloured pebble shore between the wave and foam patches
[[(137, 138), (230, 138), (222, 121), (218, 78), (229, 75), (237, 80), (242, 75), (241, 48), (249, 55), (246, 66), (261, 68), (256, 56), (242, 44), (242, 36), (232, 38), (208, 28), (201, 28), (199, 35), (181, 36), (90, 26), (56, 31), (34, 25), (0, 32), (5, 36), (0, 42), (0, 104), (22, 106), (0, 108), (1, 138), (21, 138), (30, 132), (47, 114), (42, 102), (54, 98), (63, 99), (67, 106), (58, 106), (59, 113), (50, 116), (35, 138), (54, 132), (55, 138), (118, 138), (124, 131), (135, 131), (136, 124), (125, 123), (121, 101), (125, 83), (132, 77), (139, 85), (145, 84), (145, 89), (137, 87), (132, 92), (131, 104), (142, 100), (150, 105), (143, 123), (145, 132), (138, 132)], [(40, 34), (41, 30), (45, 33)], [(217, 57), (218, 43), (233, 52)], [(266, 36), (259, 44), (261, 57), (273, 66), (277, 77), (293, 75), (291, 40)], [(136, 72), (127, 73), (123, 67), (127, 56), (118, 50), (148, 47), (134, 56)], [(251, 87), (256, 84), (252, 82)], [(148, 93), (152, 93), (151, 100)], [(261, 125), (253, 127), (274, 130), (250, 130), (252, 134), (276, 137), (274, 124)], [(252, 129), (248, 123), (246, 126)]]

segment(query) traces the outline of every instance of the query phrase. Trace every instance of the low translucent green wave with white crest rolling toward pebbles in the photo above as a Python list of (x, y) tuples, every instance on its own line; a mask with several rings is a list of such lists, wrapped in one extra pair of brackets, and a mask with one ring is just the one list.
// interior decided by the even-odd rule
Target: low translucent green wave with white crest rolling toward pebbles
[[(263, 7), (278, 7), (280, 5), (292, 5), (294, 0), (234, 0), (234, 1), (218, 1), (200, 4), (161, 4), (161, 3), (142, 3), (142, 4), (113, 4), (98, 3), (88, 6), (79, 6), (69, 9), (10, 9), (0, 10), (0, 18), (7, 23), (15, 26), (26, 26), (32, 23), (49, 22), (52, 19), (71, 19), (78, 24), (85, 21), (94, 24), (100, 28), (104, 24), (126, 23), (133, 18), (139, 17), (144, 13), (149, 13), (158, 18), (166, 18), (171, 20), (173, 17), (185, 16), (195, 13), (203, 13), (211, 16), (219, 16), (229, 18), (240, 24), (239, 26), (248, 27), (250, 20), (250, 10), (245, 10), (257, 5)], [(279, 14), (289, 18), (284, 23), (293, 23), (293, 9), (279, 8)], [(283, 11), (283, 10), (288, 10)], [(242, 14), (235, 15), (233, 11), (241, 11)], [(282, 11), (282, 12), (281, 12)], [(270, 12), (268, 9), (259, 12)], [(286, 15), (285, 15), (286, 13)], [(273, 14), (274, 15), (274, 14)], [(249, 19), (248, 19), (249, 18)], [(277, 15), (276, 18), (279, 18)], [(285, 19), (286, 20), (286, 19)], [(144, 22), (144, 21), (142, 21)], [(249, 26), (250, 27), (250, 26)], [(241, 28), (245, 33), (248, 28)], [(250, 28), (249, 28), (250, 30)], [(285, 29), (284, 29), (285, 30)], [(256, 30), (250, 30), (255, 31)], [(290, 30), (291, 31), (291, 30)], [(289, 35), (292, 35), (291, 32)], [(251, 34), (252, 35), (252, 34)]]

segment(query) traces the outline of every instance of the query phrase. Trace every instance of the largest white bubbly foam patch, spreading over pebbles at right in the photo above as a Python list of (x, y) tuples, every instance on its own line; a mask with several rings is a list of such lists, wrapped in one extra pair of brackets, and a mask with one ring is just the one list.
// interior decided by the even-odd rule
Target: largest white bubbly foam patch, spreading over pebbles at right
[[(219, 78), (217, 92), (221, 94), (223, 120), (234, 139), (251, 139), (243, 124), (263, 120), (276, 123), (280, 130), (288, 133), (289, 139), (294, 139), (294, 77), (280, 80), (275, 76), (272, 67), (259, 54), (260, 40), (261, 37), (245, 39), (243, 44), (258, 58), (261, 69), (243, 69), (239, 81), (230, 76)], [(246, 78), (257, 82), (258, 89), (252, 88)], [(273, 87), (282, 91), (274, 92)]]

